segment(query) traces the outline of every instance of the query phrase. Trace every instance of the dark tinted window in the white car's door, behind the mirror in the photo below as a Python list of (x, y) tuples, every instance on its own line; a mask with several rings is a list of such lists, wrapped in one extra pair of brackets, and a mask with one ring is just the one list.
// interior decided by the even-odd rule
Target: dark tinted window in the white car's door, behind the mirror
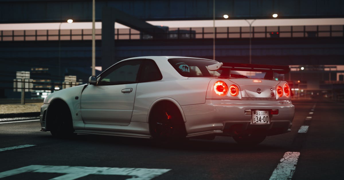
[(142, 61), (125, 61), (116, 64), (100, 75), (99, 86), (136, 83)]

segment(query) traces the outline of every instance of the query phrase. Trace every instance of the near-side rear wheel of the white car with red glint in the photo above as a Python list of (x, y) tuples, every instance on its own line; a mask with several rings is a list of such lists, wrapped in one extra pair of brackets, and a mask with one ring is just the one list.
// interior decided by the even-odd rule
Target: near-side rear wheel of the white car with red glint
[(149, 119), (149, 129), (155, 140), (185, 140), (186, 130), (182, 115), (173, 103), (155, 106)]

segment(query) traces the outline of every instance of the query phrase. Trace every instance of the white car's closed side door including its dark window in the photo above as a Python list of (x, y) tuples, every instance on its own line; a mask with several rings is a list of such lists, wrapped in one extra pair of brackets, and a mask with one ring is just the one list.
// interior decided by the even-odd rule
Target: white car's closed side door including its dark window
[(115, 64), (89, 84), (81, 95), (85, 123), (128, 125), (131, 120), (141, 60)]

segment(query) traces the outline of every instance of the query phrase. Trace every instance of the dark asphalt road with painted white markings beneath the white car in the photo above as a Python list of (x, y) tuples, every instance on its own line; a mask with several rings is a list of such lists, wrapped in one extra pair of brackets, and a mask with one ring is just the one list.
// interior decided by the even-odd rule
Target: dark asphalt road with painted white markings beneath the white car
[(344, 104), (293, 104), (292, 131), (256, 147), (230, 137), (180, 144), (82, 134), (63, 140), (40, 132), (39, 121), (3, 123), (0, 178), (344, 179)]

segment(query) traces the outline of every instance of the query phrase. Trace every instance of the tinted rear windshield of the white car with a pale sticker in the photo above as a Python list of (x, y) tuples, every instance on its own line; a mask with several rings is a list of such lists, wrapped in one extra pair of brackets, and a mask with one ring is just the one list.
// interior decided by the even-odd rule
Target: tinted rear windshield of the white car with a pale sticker
[(169, 59), (173, 68), (184, 77), (219, 77), (217, 71), (209, 71), (207, 66), (218, 62), (204, 59)]

